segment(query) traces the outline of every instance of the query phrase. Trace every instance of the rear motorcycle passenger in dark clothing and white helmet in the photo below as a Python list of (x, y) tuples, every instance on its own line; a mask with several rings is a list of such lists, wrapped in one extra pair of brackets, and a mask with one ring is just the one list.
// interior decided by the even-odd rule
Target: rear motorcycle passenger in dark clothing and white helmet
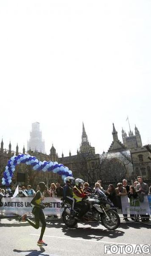
[(74, 183), (74, 178), (73, 177), (65, 177), (64, 178), (64, 183), (66, 183), (66, 185), (63, 188), (63, 199), (67, 202), (69, 202), (72, 205), (72, 211), (74, 208), (74, 204), (75, 204), (75, 200), (73, 198), (73, 183)]

